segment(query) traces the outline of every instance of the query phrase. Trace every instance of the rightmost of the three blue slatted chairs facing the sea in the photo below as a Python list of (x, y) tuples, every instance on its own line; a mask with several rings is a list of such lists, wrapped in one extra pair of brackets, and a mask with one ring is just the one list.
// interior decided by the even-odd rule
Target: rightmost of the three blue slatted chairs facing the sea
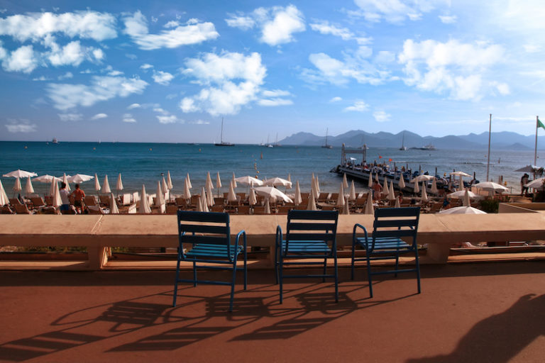
[[(367, 276), (369, 280), (369, 294), (373, 297), (373, 275), (395, 274), (398, 272), (416, 272), (418, 293), (420, 294), (420, 265), (418, 262), (417, 230), (420, 208), (378, 208), (375, 210), (373, 235), (368, 237), (363, 225), (354, 225), (352, 235), (352, 279), (354, 279), (354, 264), (356, 261), (367, 261)], [(358, 237), (358, 228), (363, 230), (363, 237)], [(405, 242), (404, 240), (409, 240)], [(356, 258), (356, 246), (365, 249), (365, 257)], [(401, 253), (414, 253), (415, 267), (400, 269)], [(371, 261), (378, 259), (394, 259), (395, 269), (387, 271), (372, 271)]]

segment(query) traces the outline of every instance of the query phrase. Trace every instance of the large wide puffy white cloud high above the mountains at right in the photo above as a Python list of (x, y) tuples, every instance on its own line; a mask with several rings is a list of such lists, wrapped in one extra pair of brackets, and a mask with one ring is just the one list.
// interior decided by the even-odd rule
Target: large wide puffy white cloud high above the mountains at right
[[(478, 100), (485, 93), (483, 77), (505, 53), (500, 45), (460, 43), (448, 40), (415, 42), (405, 40), (398, 61), (404, 65), (405, 84), (438, 94), (449, 92), (452, 99)], [(505, 90), (505, 87), (502, 87)]]

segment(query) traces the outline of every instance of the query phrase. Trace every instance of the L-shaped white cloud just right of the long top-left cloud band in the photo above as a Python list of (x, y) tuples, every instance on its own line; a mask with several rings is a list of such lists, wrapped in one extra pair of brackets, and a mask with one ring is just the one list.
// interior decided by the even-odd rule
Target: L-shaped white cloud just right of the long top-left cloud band
[(201, 23), (189, 20), (185, 26), (162, 30), (159, 34), (150, 34), (148, 21), (140, 11), (136, 11), (132, 16), (127, 16), (123, 21), (125, 23), (124, 33), (129, 35), (133, 42), (143, 50), (177, 48), (180, 45), (198, 44), (219, 37), (214, 24), (209, 22)]

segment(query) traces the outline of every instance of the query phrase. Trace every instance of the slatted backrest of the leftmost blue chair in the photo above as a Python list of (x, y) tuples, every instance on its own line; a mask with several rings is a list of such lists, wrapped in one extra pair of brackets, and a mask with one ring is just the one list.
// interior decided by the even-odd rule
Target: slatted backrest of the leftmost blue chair
[(229, 213), (178, 211), (178, 241), (183, 251), (184, 243), (225, 245), (225, 257), (232, 261), (234, 248), (231, 246)]

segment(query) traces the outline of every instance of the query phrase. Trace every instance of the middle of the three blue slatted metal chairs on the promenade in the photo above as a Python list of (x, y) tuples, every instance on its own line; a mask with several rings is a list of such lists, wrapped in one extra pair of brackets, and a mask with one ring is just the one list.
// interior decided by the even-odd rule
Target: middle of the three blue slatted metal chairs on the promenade
[[(287, 278), (326, 277), (335, 279), (335, 301), (338, 301), (337, 273), (337, 220), (338, 211), (298, 211), (287, 213), (286, 238), (282, 239), (282, 228), (276, 228), (275, 274), (280, 282), (280, 303), (282, 303), (282, 283)], [(300, 259), (323, 258), (324, 262), (300, 261)], [(334, 274), (326, 274), (327, 259), (334, 259)], [(290, 262), (290, 259), (299, 259)], [(323, 264), (322, 274), (284, 274), (284, 266), (301, 264)]]

